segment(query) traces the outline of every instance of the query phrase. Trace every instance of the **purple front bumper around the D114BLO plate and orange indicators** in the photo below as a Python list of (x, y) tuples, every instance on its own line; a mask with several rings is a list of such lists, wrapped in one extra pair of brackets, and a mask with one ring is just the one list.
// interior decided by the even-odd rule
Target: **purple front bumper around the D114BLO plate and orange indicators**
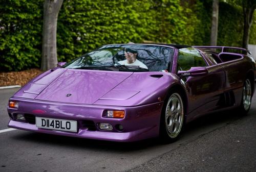
[[(163, 102), (136, 107), (118, 107), (66, 104), (17, 97), (12, 97), (10, 100), (18, 102), (19, 108), (8, 108), (11, 117), (8, 127), (47, 134), (120, 142), (157, 137), (163, 106)], [(124, 110), (125, 116), (122, 119), (107, 118), (104, 115), (106, 110)], [(26, 118), (25, 122), (18, 121), (15, 119), (16, 114), (29, 115), (30, 119)], [(31, 121), (31, 116), (77, 120), (77, 132), (37, 128), (33, 120)], [(90, 125), (88, 125), (88, 121), (90, 121)], [(111, 124), (114, 128), (113, 131), (100, 130), (98, 127), (100, 122)], [(123, 130), (118, 131), (115, 128), (117, 125), (122, 125)]]

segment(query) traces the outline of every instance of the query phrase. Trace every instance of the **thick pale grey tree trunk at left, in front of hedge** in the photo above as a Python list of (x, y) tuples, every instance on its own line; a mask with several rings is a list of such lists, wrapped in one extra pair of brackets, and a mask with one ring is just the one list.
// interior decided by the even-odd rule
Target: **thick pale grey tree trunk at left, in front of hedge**
[(44, 21), (42, 28), (41, 70), (48, 70), (57, 65), (57, 18), (63, 0), (45, 0)]

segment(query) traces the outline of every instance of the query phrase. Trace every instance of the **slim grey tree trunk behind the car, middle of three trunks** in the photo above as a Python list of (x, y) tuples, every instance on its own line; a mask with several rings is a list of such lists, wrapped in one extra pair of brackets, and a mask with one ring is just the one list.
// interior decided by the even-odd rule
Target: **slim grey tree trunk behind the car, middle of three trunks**
[(210, 33), (210, 45), (217, 45), (218, 38), (218, 18), (219, 18), (219, 0), (212, 2), (212, 18), (211, 18), (211, 33)]

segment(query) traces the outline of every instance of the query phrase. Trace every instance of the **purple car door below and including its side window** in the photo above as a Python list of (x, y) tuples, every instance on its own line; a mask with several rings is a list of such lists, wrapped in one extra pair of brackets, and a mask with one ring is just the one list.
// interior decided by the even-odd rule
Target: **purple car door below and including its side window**
[(202, 76), (180, 77), (188, 92), (189, 118), (215, 110), (221, 103), (225, 73), (222, 66), (206, 63), (205, 59), (206, 57), (203, 57), (195, 48), (179, 49), (177, 72), (187, 71), (194, 67), (205, 67), (208, 70), (208, 73)]

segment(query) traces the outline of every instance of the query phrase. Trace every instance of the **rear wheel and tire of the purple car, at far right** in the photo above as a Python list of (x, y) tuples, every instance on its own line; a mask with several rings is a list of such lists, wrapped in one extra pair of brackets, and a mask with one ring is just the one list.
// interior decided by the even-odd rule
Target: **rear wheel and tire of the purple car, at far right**
[(241, 100), (241, 105), (239, 107), (239, 112), (242, 115), (246, 115), (250, 110), (251, 99), (252, 99), (252, 87), (251, 87), (250, 80), (247, 78), (244, 82), (242, 100)]

